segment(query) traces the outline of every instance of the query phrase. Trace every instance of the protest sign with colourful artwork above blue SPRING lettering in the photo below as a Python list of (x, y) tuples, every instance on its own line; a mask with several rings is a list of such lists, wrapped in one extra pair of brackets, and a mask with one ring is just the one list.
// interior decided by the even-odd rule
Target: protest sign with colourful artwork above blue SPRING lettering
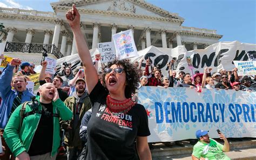
[(132, 30), (122, 31), (113, 35), (117, 59), (129, 59), (138, 56), (138, 51), (133, 39)]

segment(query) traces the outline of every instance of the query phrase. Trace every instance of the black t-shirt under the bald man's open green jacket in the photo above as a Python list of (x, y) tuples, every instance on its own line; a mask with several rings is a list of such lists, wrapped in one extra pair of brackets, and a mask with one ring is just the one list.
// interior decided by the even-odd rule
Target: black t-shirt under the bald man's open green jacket
[[(43, 104), (48, 112), (53, 113), (52, 103)], [(29, 115), (32, 116), (32, 115)], [(31, 142), (28, 154), (30, 156), (43, 155), (52, 151), (53, 142), (53, 117), (48, 117), (44, 114), (41, 115), (35, 135)]]

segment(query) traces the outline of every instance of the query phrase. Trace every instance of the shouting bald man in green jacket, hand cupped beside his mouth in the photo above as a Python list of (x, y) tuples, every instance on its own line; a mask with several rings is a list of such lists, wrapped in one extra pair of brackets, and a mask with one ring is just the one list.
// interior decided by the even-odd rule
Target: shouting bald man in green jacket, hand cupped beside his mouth
[(72, 118), (52, 83), (42, 85), (39, 93), (33, 103), (26, 104), (23, 119), (19, 105), (5, 127), (4, 139), (16, 159), (55, 159), (60, 146), (59, 117)]

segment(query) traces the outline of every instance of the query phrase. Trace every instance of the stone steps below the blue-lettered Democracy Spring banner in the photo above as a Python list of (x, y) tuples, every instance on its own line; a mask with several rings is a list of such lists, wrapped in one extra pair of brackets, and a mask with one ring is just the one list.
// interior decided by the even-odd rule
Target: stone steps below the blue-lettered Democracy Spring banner
[[(215, 139), (223, 144), (223, 141)], [(255, 159), (256, 160), (256, 140), (252, 138), (229, 140), (230, 152), (225, 154), (231, 159)], [(185, 147), (179, 147), (174, 145), (172, 148), (164, 146), (162, 143), (153, 145), (151, 150), (152, 159), (191, 159), (193, 146), (188, 142), (184, 141)]]

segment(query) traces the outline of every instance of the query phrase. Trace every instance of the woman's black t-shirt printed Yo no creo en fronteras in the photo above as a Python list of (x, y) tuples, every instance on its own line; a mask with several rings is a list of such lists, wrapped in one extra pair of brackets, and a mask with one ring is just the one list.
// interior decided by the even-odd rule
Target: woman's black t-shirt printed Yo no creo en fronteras
[(149, 136), (147, 113), (143, 105), (134, 105), (115, 120), (106, 107), (107, 92), (100, 82), (90, 93), (92, 115), (87, 125), (85, 159), (138, 159), (136, 137)]

